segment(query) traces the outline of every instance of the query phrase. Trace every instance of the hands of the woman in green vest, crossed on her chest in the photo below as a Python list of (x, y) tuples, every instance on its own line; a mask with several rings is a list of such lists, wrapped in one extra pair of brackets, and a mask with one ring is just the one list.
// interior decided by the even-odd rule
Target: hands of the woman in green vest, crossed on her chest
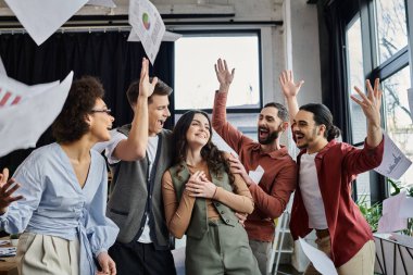
[(216, 185), (208, 180), (202, 171), (197, 171), (193, 173), (185, 187), (185, 189), (189, 191), (189, 196), (208, 199), (212, 199), (214, 197), (216, 188)]

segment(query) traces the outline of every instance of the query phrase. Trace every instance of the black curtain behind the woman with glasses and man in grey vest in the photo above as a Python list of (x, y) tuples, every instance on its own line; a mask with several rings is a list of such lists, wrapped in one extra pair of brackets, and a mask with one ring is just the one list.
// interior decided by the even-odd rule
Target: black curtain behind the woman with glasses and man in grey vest
[[(9, 77), (28, 85), (63, 80), (71, 71), (74, 79), (84, 75), (98, 77), (105, 89), (104, 101), (113, 111), (114, 126), (121, 126), (132, 122), (126, 89), (139, 79), (145, 57), (141, 43), (127, 42), (127, 37), (126, 32), (57, 33), (38, 47), (27, 34), (1, 34), (0, 57)], [(154, 66), (150, 67), (151, 76), (158, 76), (171, 87), (174, 87), (173, 53), (173, 42), (162, 42)], [(165, 127), (172, 125), (170, 118)], [(37, 147), (52, 141), (49, 128)], [(13, 173), (32, 150), (17, 150), (0, 158), (0, 168), (9, 167)]]

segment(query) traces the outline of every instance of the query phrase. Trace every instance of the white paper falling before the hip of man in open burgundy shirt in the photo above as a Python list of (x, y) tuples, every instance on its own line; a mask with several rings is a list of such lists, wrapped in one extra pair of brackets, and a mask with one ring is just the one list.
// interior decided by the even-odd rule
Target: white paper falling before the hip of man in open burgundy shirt
[[(302, 250), (309, 260), (313, 263), (314, 267), (325, 275), (336, 275), (337, 270), (334, 266), (331, 259), (329, 259), (323, 251), (310, 246), (304, 239), (299, 238)], [(338, 274), (337, 274), (338, 275)]]

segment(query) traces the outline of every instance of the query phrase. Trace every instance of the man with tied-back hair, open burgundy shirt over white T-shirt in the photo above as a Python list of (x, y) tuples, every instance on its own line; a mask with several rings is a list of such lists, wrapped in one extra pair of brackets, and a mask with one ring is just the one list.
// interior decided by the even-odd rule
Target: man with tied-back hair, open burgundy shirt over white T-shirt
[[(374, 88), (366, 82), (367, 95), (354, 87), (361, 99), (351, 96), (367, 118), (364, 148), (356, 149), (336, 141), (340, 130), (334, 126), (327, 107), (310, 103), (298, 108), (298, 85), (291, 71), (284, 72), (279, 80), (293, 117), (293, 139), (301, 149), (290, 221), (292, 237), (303, 238), (315, 229), (318, 249), (330, 257), (338, 274), (371, 275), (375, 245), (367, 222), (351, 198), (351, 184), (358, 174), (378, 166), (383, 159), (379, 82), (375, 80)], [(311, 264), (304, 274), (320, 273)]]

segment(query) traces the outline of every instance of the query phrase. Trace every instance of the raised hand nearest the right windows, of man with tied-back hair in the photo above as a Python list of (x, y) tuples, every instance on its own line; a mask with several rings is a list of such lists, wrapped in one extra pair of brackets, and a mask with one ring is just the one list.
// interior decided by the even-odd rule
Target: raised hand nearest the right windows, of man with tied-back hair
[(381, 95), (383, 91), (379, 88), (379, 79), (374, 80), (374, 88), (367, 79), (365, 82), (367, 88), (367, 96), (359, 88), (354, 86), (354, 90), (361, 97), (361, 100), (355, 96), (350, 96), (351, 99), (358, 103), (362, 109), (363, 113), (366, 116), (368, 123), (372, 126), (380, 128), (380, 107), (381, 107)]

